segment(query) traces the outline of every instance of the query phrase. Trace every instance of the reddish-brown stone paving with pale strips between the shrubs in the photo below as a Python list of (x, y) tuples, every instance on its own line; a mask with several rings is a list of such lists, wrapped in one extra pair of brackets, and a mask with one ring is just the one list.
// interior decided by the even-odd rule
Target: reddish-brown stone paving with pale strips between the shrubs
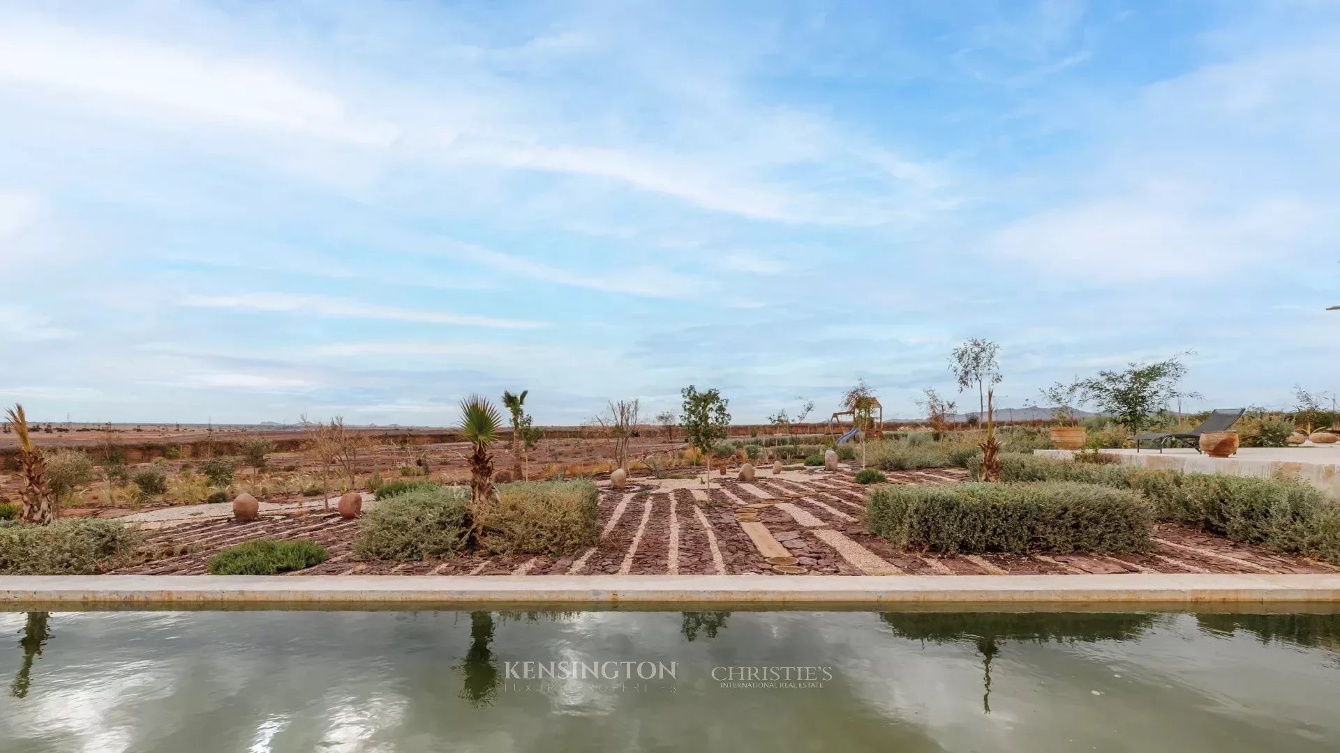
[[(600, 543), (560, 557), (466, 556), (413, 563), (356, 561), (356, 521), (335, 513), (263, 515), (253, 523), (185, 519), (150, 532), (157, 559), (118, 572), (198, 575), (210, 553), (249, 539), (310, 539), (330, 559), (300, 575), (1081, 575), (1336, 573), (1340, 568), (1159, 524), (1144, 555), (1004, 553), (933, 556), (894, 549), (862, 524), (866, 488), (852, 469), (768, 469), (749, 482), (636, 480), (600, 497)], [(958, 469), (888, 473), (892, 484), (957, 484)]]

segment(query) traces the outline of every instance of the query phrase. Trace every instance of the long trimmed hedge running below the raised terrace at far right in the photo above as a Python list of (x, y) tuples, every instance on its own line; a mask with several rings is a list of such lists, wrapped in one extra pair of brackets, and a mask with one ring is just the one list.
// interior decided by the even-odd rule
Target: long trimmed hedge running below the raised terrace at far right
[[(970, 464), (969, 476), (977, 480), (980, 474), (981, 462)], [(1158, 520), (1340, 564), (1340, 504), (1292, 478), (1001, 456), (1001, 481), (1077, 481), (1134, 489), (1150, 501)]]

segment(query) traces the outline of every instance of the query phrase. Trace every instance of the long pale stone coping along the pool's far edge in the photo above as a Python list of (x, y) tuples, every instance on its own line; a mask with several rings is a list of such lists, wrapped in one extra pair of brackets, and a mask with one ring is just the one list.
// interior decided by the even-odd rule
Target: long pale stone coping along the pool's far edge
[(0, 576), (0, 606), (1340, 603), (1337, 575)]

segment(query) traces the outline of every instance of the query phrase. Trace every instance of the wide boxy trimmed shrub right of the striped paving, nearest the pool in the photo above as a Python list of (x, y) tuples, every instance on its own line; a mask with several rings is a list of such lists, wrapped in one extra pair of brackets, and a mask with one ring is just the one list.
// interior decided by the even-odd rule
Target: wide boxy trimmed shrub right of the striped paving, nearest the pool
[(941, 553), (1146, 552), (1152, 509), (1139, 494), (1092, 484), (875, 486), (871, 533)]

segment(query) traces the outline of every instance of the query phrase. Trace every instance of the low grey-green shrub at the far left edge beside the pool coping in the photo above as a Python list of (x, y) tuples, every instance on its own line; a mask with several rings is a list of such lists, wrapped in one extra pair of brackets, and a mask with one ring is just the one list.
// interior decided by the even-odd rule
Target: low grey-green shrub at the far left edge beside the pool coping
[(127, 564), (139, 531), (117, 520), (0, 525), (0, 575), (94, 575)]

